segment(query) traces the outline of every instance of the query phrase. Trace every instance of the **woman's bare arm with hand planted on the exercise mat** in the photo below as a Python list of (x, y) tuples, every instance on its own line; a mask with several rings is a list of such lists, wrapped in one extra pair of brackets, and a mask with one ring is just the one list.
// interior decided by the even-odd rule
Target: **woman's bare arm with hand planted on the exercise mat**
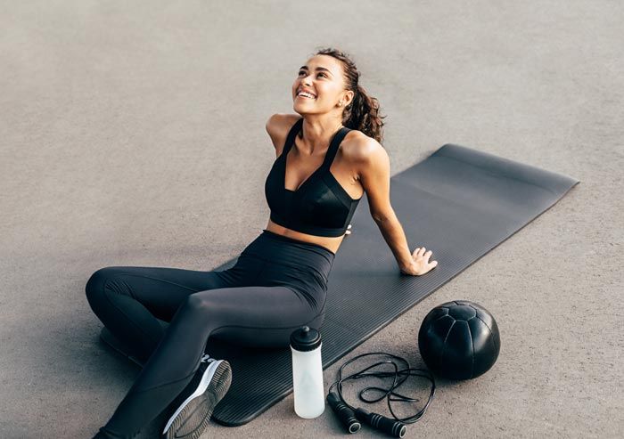
[(429, 261), (431, 250), (416, 248), (409, 250), (403, 227), (390, 205), (390, 159), (382, 145), (367, 137), (360, 149), (359, 177), (364, 187), (371, 216), (382, 232), (401, 272), (421, 275), (435, 267), (437, 261)]

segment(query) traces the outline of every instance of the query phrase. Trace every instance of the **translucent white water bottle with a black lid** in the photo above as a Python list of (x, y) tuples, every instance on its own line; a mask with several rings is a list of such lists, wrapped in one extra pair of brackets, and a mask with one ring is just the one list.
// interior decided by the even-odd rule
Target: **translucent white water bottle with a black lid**
[(303, 326), (291, 334), (292, 390), (301, 418), (316, 418), (325, 410), (321, 344), (316, 329)]

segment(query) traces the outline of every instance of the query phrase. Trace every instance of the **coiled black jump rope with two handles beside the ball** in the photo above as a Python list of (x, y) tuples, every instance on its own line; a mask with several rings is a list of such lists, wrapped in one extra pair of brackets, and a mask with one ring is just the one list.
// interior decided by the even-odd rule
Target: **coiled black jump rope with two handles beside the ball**
[[(343, 370), (350, 363), (355, 362), (356, 360), (369, 356), (369, 355), (382, 355), (385, 357), (390, 357), (389, 359), (383, 360), (381, 362), (375, 362), (374, 364), (366, 367), (363, 370), (359, 370), (347, 377), (343, 377)], [(405, 364), (405, 368), (399, 369), (397, 362), (401, 362)], [(381, 367), (386, 364), (392, 365), (392, 371), (370, 371), (376, 367)], [(342, 395), (342, 383), (345, 381), (355, 380), (358, 378), (365, 377), (374, 377), (374, 378), (392, 378), (392, 384), (388, 388), (369, 386), (365, 387), (358, 394), (359, 399), (366, 403), (374, 403), (380, 402), (383, 399), (387, 399), (388, 401), (388, 409), (390, 410), (390, 414), (392, 418), (386, 418), (378, 413), (369, 413), (361, 408), (355, 408), (349, 405), (348, 402), (345, 401), (344, 396)], [(398, 387), (402, 386), (403, 383), (406, 382), (409, 377), (422, 377), (427, 378), (431, 381), (431, 393), (429, 394), (429, 399), (427, 403), (424, 404), (424, 407), (421, 411), (415, 413), (415, 415), (408, 416), (406, 418), (398, 418), (395, 412), (392, 410), (392, 402), (417, 402), (418, 399), (410, 398), (403, 394), (398, 394), (396, 390)], [(336, 388), (337, 393), (333, 392), (333, 388)], [(327, 403), (332, 410), (338, 415), (338, 418), (341, 419), (341, 423), (347, 427), (349, 433), (356, 433), (361, 426), (361, 422), (368, 424), (371, 427), (374, 427), (377, 430), (381, 430), (384, 433), (395, 437), (403, 437), (406, 434), (407, 426), (406, 424), (412, 424), (416, 422), (418, 419), (421, 419), (424, 415), (424, 412), (429, 407), (431, 403), (431, 399), (433, 398), (433, 394), (436, 391), (436, 383), (433, 375), (429, 370), (426, 369), (418, 369), (418, 368), (410, 368), (409, 362), (406, 359), (399, 357), (393, 354), (386, 354), (384, 352), (372, 352), (367, 354), (357, 355), (353, 357), (348, 362), (344, 362), (341, 366), (341, 369), (338, 371), (338, 380), (333, 383), (332, 386), (329, 387), (329, 394), (327, 394)], [(366, 394), (370, 394), (371, 392), (377, 392), (381, 394), (381, 396), (377, 398), (366, 397)]]

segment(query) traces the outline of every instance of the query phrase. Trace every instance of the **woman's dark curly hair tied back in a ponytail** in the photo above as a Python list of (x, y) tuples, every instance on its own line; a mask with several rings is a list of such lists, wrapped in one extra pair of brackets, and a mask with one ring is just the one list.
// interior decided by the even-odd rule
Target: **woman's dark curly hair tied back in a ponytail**
[(347, 53), (331, 47), (320, 49), (316, 55), (329, 55), (342, 61), (346, 88), (355, 92), (353, 100), (349, 102), (342, 113), (342, 125), (357, 129), (381, 143), (383, 138), (382, 126), (384, 125), (382, 118), (386, 118), (386, 116), (379, 116), (379, 101), (369, 96), (365, 89), (357, 84), (360, 72), (357, 71), (355, 63), (351, 61)]

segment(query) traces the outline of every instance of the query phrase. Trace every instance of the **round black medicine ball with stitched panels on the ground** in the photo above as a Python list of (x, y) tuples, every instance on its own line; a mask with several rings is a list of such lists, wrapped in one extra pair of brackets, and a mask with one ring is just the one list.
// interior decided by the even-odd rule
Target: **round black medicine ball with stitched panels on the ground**
[(447, 302), (425, 316), (418, 331), (418, 347), (427, 367), (439, 377), (476, 378), (497, 361), (497, 321), (473, 302)]

